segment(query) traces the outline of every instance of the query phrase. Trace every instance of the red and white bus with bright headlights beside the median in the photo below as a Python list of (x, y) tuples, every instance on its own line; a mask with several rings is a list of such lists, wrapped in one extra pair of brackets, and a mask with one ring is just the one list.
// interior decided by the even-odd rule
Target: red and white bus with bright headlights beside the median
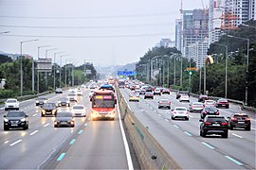
[(96, 91), (92, 96), (91, 116), (93, 120), (110, 119), (116, 116), (116, 97), (113, 91)]

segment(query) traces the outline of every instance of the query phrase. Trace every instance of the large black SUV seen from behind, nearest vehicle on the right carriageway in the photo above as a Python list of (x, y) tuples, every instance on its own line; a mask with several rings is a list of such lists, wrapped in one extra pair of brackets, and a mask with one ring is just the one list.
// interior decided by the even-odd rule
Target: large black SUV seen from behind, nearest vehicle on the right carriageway
[(228, 138), (229, 126), (224, 116), (207, 115), (199, 121), (202, 122), (200, 125), (200, 136), (206, 137), (208, 134), (218, 134), (222, 135), (223, 138)]

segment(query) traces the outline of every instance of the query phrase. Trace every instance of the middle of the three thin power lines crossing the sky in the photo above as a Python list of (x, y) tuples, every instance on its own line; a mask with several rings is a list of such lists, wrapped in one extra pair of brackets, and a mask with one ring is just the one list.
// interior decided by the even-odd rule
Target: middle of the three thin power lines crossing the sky
[(11, 26), (0, 25), (0, 27), (18, 27), (18, 28), (42, 28), (42, 29), (92, 29), (92, 28), (122, 28), (135, 26), (174, 26), (174, 23), (156, 23), (156, 24), (139, 24), (139, 25), (123, 25), (123, 26)]

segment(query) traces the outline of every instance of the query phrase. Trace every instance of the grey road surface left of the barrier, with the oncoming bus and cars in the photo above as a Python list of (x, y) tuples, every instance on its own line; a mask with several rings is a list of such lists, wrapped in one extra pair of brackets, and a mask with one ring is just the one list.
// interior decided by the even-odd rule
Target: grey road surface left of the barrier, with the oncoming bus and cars
[[(53, 127), (54, 117), (41, 117), (41, 108), (30, 99), (20, 103), (29, 128), (4, 131), (7, 111), (0, 110), (0, 169), (128, 169), (119, 114), (115, 121), (91, 121), (88, 93), (83, 90), (78, 101), (87, 108), (87, 116), (76, 117), (75, 127)], [(57, 102), (66, 95), (46, 97)]]

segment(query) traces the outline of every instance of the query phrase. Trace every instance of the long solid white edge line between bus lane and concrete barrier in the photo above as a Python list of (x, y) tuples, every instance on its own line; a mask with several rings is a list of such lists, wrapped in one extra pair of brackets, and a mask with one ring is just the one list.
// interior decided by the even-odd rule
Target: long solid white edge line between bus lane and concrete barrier
[[(117, 97), (117, 98), (118, 98), (118, 97)], [(125, 98), (124, 98), (124, 99), (125, 99)], [(118, 100), (118, 99), (117, 99), (117, 100)], [(118, 101), (118, 103), (119, 103), (119, 101)], [(126, 102), (126, 103), (127, 103), (127, 102)], [(132, 158), (131, 158), (129, 145), (128, 145), (128, 142), (127, 142), (127, 139), (126, 139), (126, 136), (125, 136), (123, 127), (122, 127), (122, 122), (121, 122), (121, 119), (120, 119), (119, 104), (118, 104), (117, 106), (118, 106), (118, 112), (119, 112), (119, 125), (120, 125), (122, 140), (123, 140), (123, 144), (124, 144), (124, 148), (125, 148), (125, 152), (126, 152), (126, 158), (127, 158), (127, 162), (128, 162), (128, 168), (129, 168), (129, 170), (134, 170), (134, 165), (133, 165), (133, 161), (132, 161)], [(128, 107), (129, 107), (129, 105), (128, 105)], [(129, 107), (129, 109), (130, 109), (130, 107)], [(130, 109), (130, 110), (131, 110), (131, 109)]]

